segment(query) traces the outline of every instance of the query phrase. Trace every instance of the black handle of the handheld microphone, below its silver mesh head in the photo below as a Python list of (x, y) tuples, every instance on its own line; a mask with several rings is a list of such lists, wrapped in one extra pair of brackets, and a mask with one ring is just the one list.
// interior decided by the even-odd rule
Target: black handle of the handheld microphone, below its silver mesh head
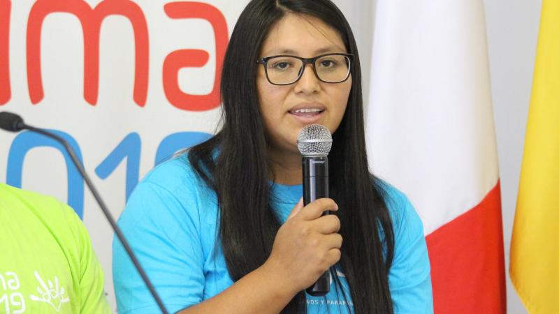
[[(303, 156), (303, 204), (305, 206), (319, 198), (329, 197), (328, 188), (328, 157)], [(323, 215), (330, 214), (324, 211)], [(305, 290), (313, 297), (321, 297), (330, 292), (330, 272), (322, 274), (316, 283)]]

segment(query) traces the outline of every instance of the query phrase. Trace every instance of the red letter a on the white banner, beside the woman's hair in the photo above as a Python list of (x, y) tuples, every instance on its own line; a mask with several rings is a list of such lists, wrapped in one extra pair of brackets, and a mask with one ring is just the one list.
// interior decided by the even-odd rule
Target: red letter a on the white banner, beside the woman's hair
[(210, 110), (221, 103), (219, 84), (222, 80), (223, 59), (228, 43), (227, 22), (215, 6), (201, 2), (167, 3), (165, 13), (173, 19), (203, 19), (212, 24), (215, 34), (215, 80), (208, 95), (191, 95), (180, 90), (178, 71), (186, 67), (201, 67), (208, 62), (209, 54), (203, 50), (177, 50), (165, 58), (163, 64), (163, 87), (169, 102), (181, 109), (191, 111)]

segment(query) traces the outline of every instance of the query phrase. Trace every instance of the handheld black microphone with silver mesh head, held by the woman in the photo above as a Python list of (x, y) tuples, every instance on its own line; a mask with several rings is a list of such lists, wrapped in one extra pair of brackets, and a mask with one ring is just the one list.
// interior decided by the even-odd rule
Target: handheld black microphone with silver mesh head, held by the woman
[[(326, 126), (310, 124), (300, 131), (297, 147), (303, 155), (303, 203), (305, 206), (319, 198), (328, 197), (328, 153), (332, 135)], [(330, 214), (324, 211), (323, 215)], [(322, 274), (316, 283), (305, 290), (314, 297), (330, 292), (330, 272)]]

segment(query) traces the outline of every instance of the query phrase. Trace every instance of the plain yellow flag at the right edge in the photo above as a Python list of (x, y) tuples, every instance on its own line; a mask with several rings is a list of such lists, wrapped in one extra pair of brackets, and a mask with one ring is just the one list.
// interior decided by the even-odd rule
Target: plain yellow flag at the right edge
[(559, 1), (544, 0), (511, 242), (530, 313), (559, 313)]

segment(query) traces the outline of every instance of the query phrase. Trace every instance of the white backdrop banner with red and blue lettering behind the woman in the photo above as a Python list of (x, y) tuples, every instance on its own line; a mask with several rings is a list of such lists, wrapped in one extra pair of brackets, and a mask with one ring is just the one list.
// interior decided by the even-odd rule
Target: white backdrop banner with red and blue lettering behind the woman
[[(217, 130), (222, 59), (248, 1), (0, 0), (0, 111), (66, 138), (117, 218), (154, 165)], [(85, 221), (111, 304), (112, 230), (62, 147), (0, 133), (0, 178)]]

